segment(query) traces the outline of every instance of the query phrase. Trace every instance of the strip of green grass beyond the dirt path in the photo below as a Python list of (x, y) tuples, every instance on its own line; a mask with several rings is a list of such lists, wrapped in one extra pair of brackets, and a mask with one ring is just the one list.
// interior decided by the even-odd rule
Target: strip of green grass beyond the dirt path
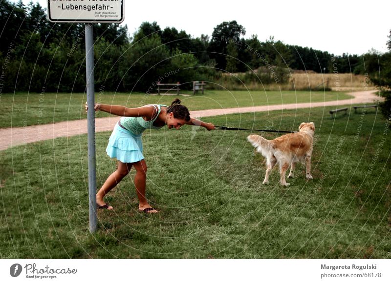
[[(317, 102), (348, 99), (350, 96), (336, 92), (308, 91), (219, 91), (210, 90), (205, 95), (180, 96), (183, 104), (190, 110), (234, 108), (253, 105), (273, 105), (299, 102)], [(47, 124), (59, 121), (86, 118), (83, 93), (17, 93), (1, 96), (0, 128), (22, 127)], [(95, 101), (105, 104), (139, 107), (145, 104), (171, 104), (175, 96), (147, 96), (145, 94), (125, 94), (112, 92), (95, 93)], [(109, 114), (98, 112), (97, 117)]]

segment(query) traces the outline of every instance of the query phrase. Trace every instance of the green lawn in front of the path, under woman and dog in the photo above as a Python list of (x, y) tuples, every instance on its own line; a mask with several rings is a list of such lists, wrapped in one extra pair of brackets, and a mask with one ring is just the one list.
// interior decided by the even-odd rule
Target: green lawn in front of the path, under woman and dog
[[(132, 170), (91, 235), (86, 135), (25, 144), (0, 152), (0, 257), (391, 258), (391, 132), (373, 110), (335, 120), (313, 108), (208, 121), (283, 130), (314, 121), (314, 180), (301, 165), (289, 187), (278, 184), (278, 170), (262, 185), (264, 159), (246, 142), (249, 132), (146, 132), (147, 196), (160, 213), (137, 212)], [(115, 170), (109, 134), (96, 138), (98, 186)]]

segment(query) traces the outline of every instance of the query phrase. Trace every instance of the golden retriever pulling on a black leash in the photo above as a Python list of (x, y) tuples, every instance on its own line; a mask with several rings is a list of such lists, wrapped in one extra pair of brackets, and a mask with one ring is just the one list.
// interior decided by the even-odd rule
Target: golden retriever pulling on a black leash
[(278, 162), (280, 164), (280, 182), (283, 186), (289, 186), (285, 181), (285, 173), (290, 167), (288, 178), (293, 178), (293, 170), (297, 162), (305, 162), (306, 178), (311, 176), (311, 154), (314, 142), (315, 124), (301, 123), (299, 132), (283, 135), (272, 141), (268, 141), (258, 135), (250, 135), (247, 140), (266, 158), (267, 169), (263, 184), (269, 182), (269, 175)]

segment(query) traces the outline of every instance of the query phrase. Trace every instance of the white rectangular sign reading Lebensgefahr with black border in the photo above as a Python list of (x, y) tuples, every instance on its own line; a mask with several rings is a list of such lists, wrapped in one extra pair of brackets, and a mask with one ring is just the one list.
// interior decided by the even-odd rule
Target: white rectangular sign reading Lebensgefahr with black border
[(47, 0), (54, 22), (122, 22), (124, 0)]

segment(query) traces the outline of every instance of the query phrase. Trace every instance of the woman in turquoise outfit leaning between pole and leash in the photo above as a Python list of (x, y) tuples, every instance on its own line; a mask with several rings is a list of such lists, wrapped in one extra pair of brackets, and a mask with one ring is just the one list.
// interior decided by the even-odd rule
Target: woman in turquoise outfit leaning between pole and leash
[[(87, 110), (86, 102), (86, 110)], [(110, 114), (124, 116), (115, 125), (109, 138), (106, 152), (111, 158), (118, 160), (118, 168), (113, 172), (96, 194), (97, 208), (113, 209), (103, 201), (104, 196), (128, 175), (130, 168), (136, 169), (134, 186), (139, 200), (138, 209), (146, 213), (156, 213), (157, 210), (149, 205), (145, 198), (145, 183), (147, 179), (147, 164), (143, 156), (142, 133), (146, 129), (160, 129), (167, 125), (169, 129), (179, 129), (181, 126), (196, 125), (205, 127), (208, 131), (215, 126), (190, 118), (186, 106), (180, 105), (175, 99), (171, 106), (150, 104), (138, 108), (128, 108), (118, 105), (95, 103), (95, 111), (109, 112)]]

